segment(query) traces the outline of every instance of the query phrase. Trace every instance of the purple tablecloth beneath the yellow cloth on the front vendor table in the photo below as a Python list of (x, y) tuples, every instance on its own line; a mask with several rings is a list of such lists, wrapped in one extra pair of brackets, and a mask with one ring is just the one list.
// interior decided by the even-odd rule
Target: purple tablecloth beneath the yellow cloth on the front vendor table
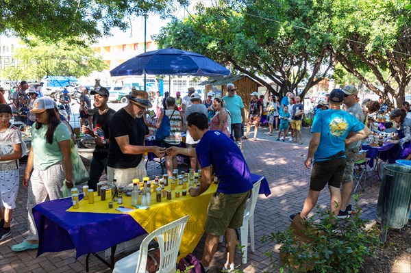
[[(253, 183), (260, 178), (251, 174)], [(265, 177), (259, 193), (271, 194)], [(33, 208), (39, 237), (37, 256), (75, 248), (77, 259), (147, 233), (128, 214), (67, 212), (71, 205), (71, 198), (66, 198), (46, 201)]]

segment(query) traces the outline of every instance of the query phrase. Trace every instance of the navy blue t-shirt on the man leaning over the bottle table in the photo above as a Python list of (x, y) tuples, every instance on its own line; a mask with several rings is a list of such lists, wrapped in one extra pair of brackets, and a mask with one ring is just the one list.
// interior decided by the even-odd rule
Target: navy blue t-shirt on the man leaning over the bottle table
[(201, 168), (212, 166), (219, 178), (217, 192), (240, 194), (253, 188), (240, 148), (221, 131), (207, 131), (195, 151)]

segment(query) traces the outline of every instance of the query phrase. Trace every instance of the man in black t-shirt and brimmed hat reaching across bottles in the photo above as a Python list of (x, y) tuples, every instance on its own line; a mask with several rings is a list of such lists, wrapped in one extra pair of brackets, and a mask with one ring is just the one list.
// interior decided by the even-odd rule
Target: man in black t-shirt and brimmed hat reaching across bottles
[(144, 146), (144, 138), (148, 128), (143, 114), (151, 107), (148, 94), (141, 90), (132, 90), (127, 95), (127, 106), (112, 115), (108, 123), (110, 129), (110, 144), (108, 146), (107, 176), (111, 183), (116, 179), (118, 186), (132, 183), (133, 179), (147, 176), (143, 159), (144, 153), (155, 153), (164, 157), (165, 148), (159, 146)]

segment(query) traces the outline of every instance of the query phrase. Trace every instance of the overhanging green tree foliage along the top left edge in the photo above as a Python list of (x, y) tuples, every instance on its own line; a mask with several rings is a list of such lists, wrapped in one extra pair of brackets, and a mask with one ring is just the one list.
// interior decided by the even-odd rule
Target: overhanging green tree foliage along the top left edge
[[(129, 27), (134, 16), (175, 14), (186, 0), (2, 0), (0, 34), (42, 40), (95, 39), (113, 27)], [(127, 20), (129, 19), (129, 20)], [(78, 41), (78, 40), (77, 40)]]

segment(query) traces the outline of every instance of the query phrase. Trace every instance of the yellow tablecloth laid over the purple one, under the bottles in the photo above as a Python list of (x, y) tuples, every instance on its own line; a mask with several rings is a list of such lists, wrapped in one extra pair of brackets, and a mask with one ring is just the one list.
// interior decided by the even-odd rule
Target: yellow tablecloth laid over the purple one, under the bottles
[[(151, 205), (149, 209), (135, 209), (134, 211), (127, 212), (130, 216), (134, 218), (142, 226), (147, 233), (155, 231), (155, 229), (164, 226), (182, 218), (186, 215), (190, 216), (188, 218), (188, 223), (186, 229), (184, 230), (184, 235), (182, 238), (182, 244), (180, 246), (180, 257), (185, 257), (188, 253), (192, 252), (197, 244), (199, 243), (201, 236), (204, 233), (204, 224), (207, 218), (207, 207), (210, 202), (210, 198), (214, 192), (216, 192), (217, 185), (212, 184), (207, 192), (204, 192), (200, 196), (191, 197), (182, 196), (182, 186), (176, 187), (172, 192), (172, 199), (166, 200), (162, 197), (162, 202), (157, 203), (155, 194), (151, 193)], [(166, 190), (170, 189), (170, 185), (166, 187)], [(180, 197), (175, 198), (175, 192), (180, 192)], [(95, 203), (88, 204), (88, 200), (80, 200), (79, 209), (67, 209), (69, 212), (94, 212), (94, 213), (123, 213), (121, 211), (116, 211), (119, 206), (131, 207), (132, 198), (128, 196), (123, 196), (123, 204), (118, 205), (116, 202), (113, 203), (113, 208), (108, 208), (108, 202), (111, 201), (111, 192), (107, 192), (106, 200), (101, 201), (100, 196), (95, 193)]]

